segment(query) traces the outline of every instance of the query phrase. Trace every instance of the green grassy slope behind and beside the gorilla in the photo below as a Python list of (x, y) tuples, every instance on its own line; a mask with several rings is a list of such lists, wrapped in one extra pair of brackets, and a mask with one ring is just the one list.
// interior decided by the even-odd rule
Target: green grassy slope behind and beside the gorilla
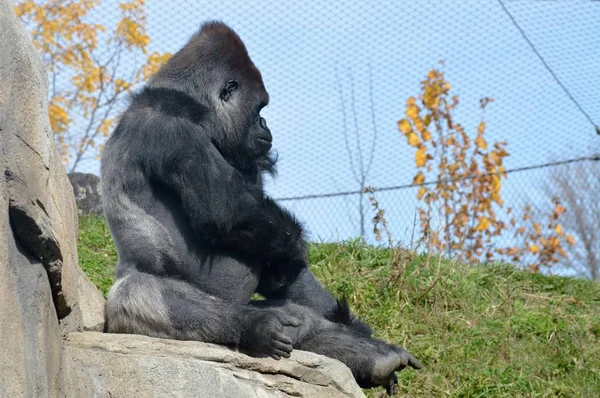
[[(81, 266), (106, 293), (116, 262), (108, 229), (83, 218), (79, 235)], [(312, 245), (310, 263), (377, 337), (423, 362), (400, 373), (398, 396), (600, 397), (596, 283), (410, 255), (396, 278), (389, 251), (359, 241)]]

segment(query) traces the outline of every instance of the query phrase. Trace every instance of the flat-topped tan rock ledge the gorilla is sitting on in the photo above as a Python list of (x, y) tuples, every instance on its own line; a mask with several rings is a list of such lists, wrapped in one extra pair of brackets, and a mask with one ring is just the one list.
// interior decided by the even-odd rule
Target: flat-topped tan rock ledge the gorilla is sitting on
[(252, 358), (214, 344), (145, 336), (70, 333), (65, 397), (364, 397), (337, 360), (293, 351)]

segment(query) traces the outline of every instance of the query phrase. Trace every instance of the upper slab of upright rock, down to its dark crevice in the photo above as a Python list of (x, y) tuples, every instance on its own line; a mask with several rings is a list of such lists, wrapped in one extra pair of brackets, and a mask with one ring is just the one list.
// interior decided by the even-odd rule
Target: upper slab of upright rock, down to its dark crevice
[(0, 1), (0, 164), (16, 240), (44, 265), (64, 331), (102, 330), (104, 298), (77, 266), (77, 211), (48, 122), (47, 78), (10, 1)]

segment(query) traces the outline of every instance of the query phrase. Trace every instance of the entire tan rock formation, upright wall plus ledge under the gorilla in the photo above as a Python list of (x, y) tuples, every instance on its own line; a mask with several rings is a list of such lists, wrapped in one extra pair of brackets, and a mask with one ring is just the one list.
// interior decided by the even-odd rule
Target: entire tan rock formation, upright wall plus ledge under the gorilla
[[(361, 397), (316, 354), (97, 333), (104, 298), (77, 265), (77, 210), (48, 123), (41, 61), (0, 0), (0, 396)], [(85, 188), (87, 189), (87, 188)]]

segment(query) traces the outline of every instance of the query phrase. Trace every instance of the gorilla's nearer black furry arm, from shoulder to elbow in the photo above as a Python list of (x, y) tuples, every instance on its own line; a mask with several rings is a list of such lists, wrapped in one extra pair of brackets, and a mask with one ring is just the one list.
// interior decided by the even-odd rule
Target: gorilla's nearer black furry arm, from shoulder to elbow
[(179, 198), (198, 239), (276, 265), (282, 279), (307, 265), (300, 223), (229, 164), (201, 126), (183, 118), (159, 123), (164, 133), (153, 139), (163, 142), (142, 162)]

